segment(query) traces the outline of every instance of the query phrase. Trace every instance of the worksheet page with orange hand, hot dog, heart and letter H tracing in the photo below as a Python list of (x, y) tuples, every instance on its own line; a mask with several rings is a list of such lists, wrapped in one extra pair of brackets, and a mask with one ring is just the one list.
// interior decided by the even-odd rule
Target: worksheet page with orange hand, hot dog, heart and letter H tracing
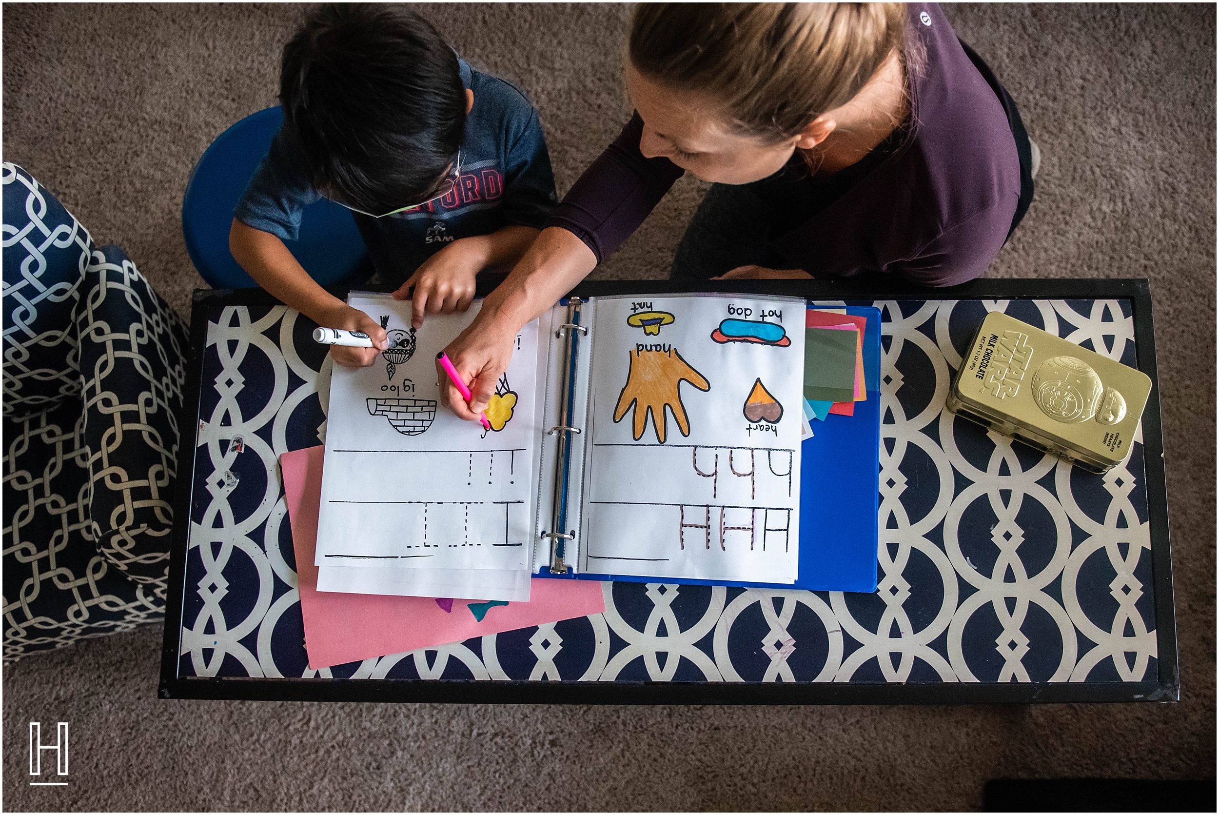
[(805, 301), (596, 298), (580, 569), (792, 583)]

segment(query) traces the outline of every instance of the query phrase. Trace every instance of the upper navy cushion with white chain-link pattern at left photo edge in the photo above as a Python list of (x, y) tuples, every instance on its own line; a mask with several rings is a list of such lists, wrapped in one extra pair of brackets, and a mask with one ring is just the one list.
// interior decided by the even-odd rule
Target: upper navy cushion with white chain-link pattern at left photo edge
[(78, 289), (93, 239), (17, 165), (4, 182), (4, 415), (37, 414), (80, 390)]

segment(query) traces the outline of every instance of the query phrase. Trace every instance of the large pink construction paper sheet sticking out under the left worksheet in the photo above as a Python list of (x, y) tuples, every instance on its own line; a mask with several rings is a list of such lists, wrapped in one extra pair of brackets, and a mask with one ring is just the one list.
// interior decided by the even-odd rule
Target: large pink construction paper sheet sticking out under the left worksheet
[(318, 592), (313, 550), (322, 501), (323, 453), (324, 448), (312, 447), (279, 456), (310, 667), (433, 648), (606, 610), (601, 583), (596, 581), (534, 578), (528, 603), (492, 606), (482, 622), (467, 608), (479, 600), (451, 600), (450, 610), (445, 611), (427, 597)]

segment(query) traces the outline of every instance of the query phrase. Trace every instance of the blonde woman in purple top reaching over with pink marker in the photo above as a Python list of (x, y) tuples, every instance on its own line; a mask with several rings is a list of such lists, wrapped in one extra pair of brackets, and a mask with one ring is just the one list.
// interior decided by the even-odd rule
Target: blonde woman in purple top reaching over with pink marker
[(713, 182), (684, 278), (981, 275), (1032, 195), (1011, 96), (934, 4), (640, 4), (635, 112), (446, 349), (477, 420), (517, 332), (583, 279), (685, 172)]

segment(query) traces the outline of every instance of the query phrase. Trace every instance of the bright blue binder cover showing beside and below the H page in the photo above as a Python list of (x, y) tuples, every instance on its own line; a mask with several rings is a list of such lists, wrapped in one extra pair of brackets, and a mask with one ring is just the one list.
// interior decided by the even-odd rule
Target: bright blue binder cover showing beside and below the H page
[[(811, 309), (813, 306), (809, 306)], [(855, 403), (853, 416), (830, 414), (813, 422), (813, 438), (803, 440), (800, 465), (800, 576), (795, 584), (730, 583), (681, 580), (694, 586), (747, 586), (819, 592), (875, 592), (878, 514), (880, 511), (880, 310), (847, 306), (867, 317), (863, 332), (865, 401)], [(551, 575), (536, 577), (631, 583), (673, 582), (635, 575)]]

